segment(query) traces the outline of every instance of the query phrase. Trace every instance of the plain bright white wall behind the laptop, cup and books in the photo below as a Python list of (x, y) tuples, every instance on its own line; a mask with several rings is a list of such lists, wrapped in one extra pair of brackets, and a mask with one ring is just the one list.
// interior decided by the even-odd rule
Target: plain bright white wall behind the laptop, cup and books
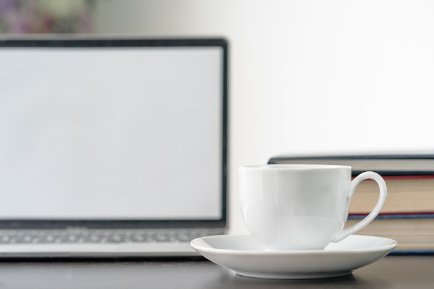
[(98, 33), (230, 44), (230, 228), (242, 164), (434, 148), (434, 1), (103, 0)]

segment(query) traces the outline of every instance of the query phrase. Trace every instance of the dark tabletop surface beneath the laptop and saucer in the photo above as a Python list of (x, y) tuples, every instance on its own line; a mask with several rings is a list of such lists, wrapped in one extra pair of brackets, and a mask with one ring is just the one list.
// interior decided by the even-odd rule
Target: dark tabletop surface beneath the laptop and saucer
[(1, 261), (0, 288), (434, 288), (434, 255), (390, 255), (346, 277), (241, 277), (198, 260)]

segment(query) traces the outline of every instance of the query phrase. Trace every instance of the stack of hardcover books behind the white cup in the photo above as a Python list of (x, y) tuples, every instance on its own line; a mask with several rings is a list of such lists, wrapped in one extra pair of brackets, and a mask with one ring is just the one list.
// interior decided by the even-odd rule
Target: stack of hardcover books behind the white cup
[[(351, 166), (353, 177), (365, 170), (379, 173), (388, 186), (388, 198), (380, 215), (358, 234), (397, 240), (395, 254), (434, 253), (434, 154), (281, 155), (269, 164), (345, 165)], [(378, 198), (374, 181), (359, 184), (346, 227), (364, 218)]]

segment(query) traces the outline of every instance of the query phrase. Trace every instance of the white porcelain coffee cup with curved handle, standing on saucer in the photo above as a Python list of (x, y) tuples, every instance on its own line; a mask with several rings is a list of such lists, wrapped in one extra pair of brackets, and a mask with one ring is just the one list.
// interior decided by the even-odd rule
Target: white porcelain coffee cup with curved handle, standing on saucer
[[(384, 179), (350, 166), (288, 164), (239, 168), (241, 213), (252, 236), (270, 251), (324, 249), (368, 225), (387, 196)], [(349, 200), (364, 179), (379, 185), (379, 201), (356, 225), (343, 229)]]

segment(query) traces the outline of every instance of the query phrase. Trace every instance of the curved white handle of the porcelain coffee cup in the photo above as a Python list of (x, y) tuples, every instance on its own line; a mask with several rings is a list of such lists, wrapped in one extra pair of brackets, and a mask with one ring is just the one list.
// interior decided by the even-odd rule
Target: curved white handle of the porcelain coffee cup
[(366, 227), (366, 225), (372, 222), (372, 220), (374, 220), (374, 218), (379, 215), (381, 209), (383, 209), (383, 206), (385, 204), (385, 198), (388, 195), (388, 188), (385, 185), (383, 177), (381, 177), (381, 175), (379, 175), (378, 173), (368, 171), (361, 173), (360, 175), (355, 177), (349, 184), (349, 198), (353, 198), (356, 191), (356, 186), (358, 186), (358, 184), (360, 184), (365, 179), (373, 179), (379, 185), (379, 201), (376, 203), (374, 209), (365, 218), (363, 218), (363, 220), (358, 222), (356, 225), (349, 227), (348, 229), (344, 229), (338, 232), (338, 234), (333, 236), (331, 242), (339, 242), (343, 238), (346, 238), (347, 236), (356, 233), (356, 231), (363, 229), (364, 227)]

